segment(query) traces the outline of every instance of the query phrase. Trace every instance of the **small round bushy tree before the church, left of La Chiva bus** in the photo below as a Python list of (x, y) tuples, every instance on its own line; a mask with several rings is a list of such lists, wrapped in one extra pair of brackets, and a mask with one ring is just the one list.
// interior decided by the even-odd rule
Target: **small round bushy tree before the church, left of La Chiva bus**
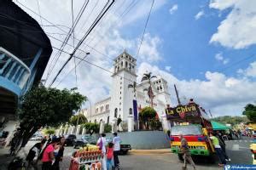
[(140, 111), (139, 118), (144, 123), (146, 128), (148, 128), (147, 122), (150, 122), (152, 119), (154, 119), (156, 114), (157, 114), (156, 111), (154, 111), (152, 107), (147, 106), (147, 107), (144, 107), (142, 111)]

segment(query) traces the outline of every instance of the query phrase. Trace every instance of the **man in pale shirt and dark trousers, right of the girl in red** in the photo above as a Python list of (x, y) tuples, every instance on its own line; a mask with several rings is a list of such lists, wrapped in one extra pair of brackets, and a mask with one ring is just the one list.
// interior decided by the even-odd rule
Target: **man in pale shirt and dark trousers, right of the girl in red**
[(120, 169), (119, 151), (121, 139), (117, 133), (113, 133), (113, 164), (116, 169)]

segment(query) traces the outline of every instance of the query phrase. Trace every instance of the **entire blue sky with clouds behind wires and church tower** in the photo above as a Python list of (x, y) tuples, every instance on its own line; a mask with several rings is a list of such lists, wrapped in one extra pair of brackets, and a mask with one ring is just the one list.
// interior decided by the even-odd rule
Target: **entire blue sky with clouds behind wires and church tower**
[[(45, 3), (38, 0), (39, 6), (36, 1), (19, 2), (55, 24), (72, 25), (70, 1), (49, 0)], [(81, 1), (73, 2), (76, 16), (81, 8)], [(107, 0), (98, 3), (90, 1), (75, 29), (74, 45), (84, 36), (106, 2)], [(119, 18), (129, 5), (132, 6), (131, 10)], [(96, 8), (93, 8), (94, 6)], [(105, 55), (83, 44), (80, 48), (90, 52), (86, 59), (112, 71), (112, 59), (124, 49), (135, 57), (150, 6), (151, 1), (148, 0), (116, 1), (85, 41), (87, 45)], [(175, 83), (183, 103), (189, 98), (194, 98), (206, 110), (211, 110), (213, 116), (241, 115), (245, 105), (256, 101), (256, 56), (253, 55), (256, 51), (255, 6), (256, 2), (251, 0), (155, 0), (143, 44), (137, 56), (137, 82), (140, 82), (145, 71), (151, 71), (154, 75), (164, 77), (168, 82), (171, 105), (177, 105), (173, 90)], [(44, 31), (51, 36), (49, 38), (52, 45), (60, 48), (61, 42), (52, 36), (64, 41), (66, 36), (56, 33), (65, 32), (61, 32), (55, 26), (45, 26), (49, 25), (46, 20), (41, 21), (37, 14), (26, 8), (24, 10), (43, 25)], [(68, 43), (64, 49), (72, 52), (73, 45), (70, 44), (73, 44), (73, 38)], [(68, 58), (67, 54), (61, 54), (53, 66), (52, 60), (55, 59), (57, 52), (54, 49), (44, 72), (46, 79), (49, 68), (53, 67), (47, 86), (55, 72)], [(76, 55), (84, 57), (80, 52)], [(252, 55), (253, 57), (248, 58)], [(239, 62), (240, 60), (242, 61)], [(53, 87), (78, 86), (79, 92), (86, 95), (92, 103), (109, 96), (112, 84), (109, 72), (82, 63), (77, 69), (76, 84), (74, 71), (67, 75), (73, 66), (74, 62), (68, 63)]]

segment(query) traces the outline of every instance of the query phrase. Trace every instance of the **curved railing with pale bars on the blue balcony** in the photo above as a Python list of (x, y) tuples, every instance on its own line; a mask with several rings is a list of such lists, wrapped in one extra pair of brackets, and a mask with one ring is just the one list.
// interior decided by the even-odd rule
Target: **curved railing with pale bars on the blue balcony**
[(0, 77), (15, 83), (22, 90), (30, 75), (30, 69), (20, 59), (0, 47)]

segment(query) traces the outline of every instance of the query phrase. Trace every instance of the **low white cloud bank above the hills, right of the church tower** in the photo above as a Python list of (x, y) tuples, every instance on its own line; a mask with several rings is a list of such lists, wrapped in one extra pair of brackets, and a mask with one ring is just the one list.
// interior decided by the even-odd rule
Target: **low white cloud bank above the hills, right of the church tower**
[[(142, 63), (138, 68), (138, 80), (143, 72), (151, 71), (154, 75), (161, 75), (169, 85), (172, 97), (172, 105), (177, 105), (173, 84), (177, 84), (180, 96), (187, 99), (194, 98), (197, 103), (206, 110), (211, 110), (213, 116), (240, 115), (247, 103), (254, 102), (256, 96), (256, 82), (246, 77), (226, 77), (219, 72), (205, 73), (206, 80), (191, 79), (179, 80), (167, 71), (161, 70), (155, 65)], [(184, 101), (183, 102), (187, 102)]]

